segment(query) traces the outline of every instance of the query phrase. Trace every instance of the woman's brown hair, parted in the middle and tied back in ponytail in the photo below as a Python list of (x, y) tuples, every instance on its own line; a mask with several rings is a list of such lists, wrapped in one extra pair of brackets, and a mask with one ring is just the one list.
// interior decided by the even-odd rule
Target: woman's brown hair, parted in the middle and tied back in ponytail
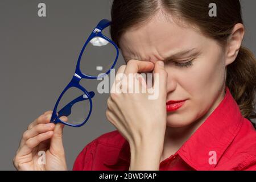
[[(217, 16), (209, 16), (209, 4), (216, 3)], [(119, 47), (123, 32), (145, 23), (158, 10), (164, 10), (175, 19), (196, 25), (204, 35), (225, 46), (237, 23), (243, 23), (239, 0), (114, 0), (110, 35)], [(120, 47), (119, 47), (120, 48)], [(249, 49), (242, 47), (237, 58), (227, 67), (226, 86), (240, 107), (243, 117), (256, 118), (255, 87), (256, 60)]]

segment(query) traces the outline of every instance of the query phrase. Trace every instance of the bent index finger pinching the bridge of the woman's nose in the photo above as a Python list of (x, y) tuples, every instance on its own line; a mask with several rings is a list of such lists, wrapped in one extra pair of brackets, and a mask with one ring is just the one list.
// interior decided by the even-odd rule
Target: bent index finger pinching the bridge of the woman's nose
[(130, 60), (126, 65), (124, 73), (128, 76), (129, 73), (148, 72), (153, 69), (154, 64), (150, 61)]

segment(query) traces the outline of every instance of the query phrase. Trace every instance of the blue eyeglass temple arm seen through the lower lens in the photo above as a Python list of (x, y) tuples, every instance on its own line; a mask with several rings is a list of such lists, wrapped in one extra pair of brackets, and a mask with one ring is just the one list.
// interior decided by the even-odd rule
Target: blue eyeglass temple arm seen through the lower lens
[[(89, 92), (89, 96), (90, 98), (93, 98), (95, 95), (94, 92)], [(58, 117), (61, 117), (63, 115), (68, 116), (69, 114), (71, 114), (71, 108), (74, 104), (76, 104), (77, 102), (80, 101), (84, 101), (84, 100), (88, 100), (88, 97), (86, 96), (86, 94), (82, 94), (81, 96), (75, 98), (73, 101), (69, 102), (67, 105), (65, 105), (59, 112), (58, 112)]]

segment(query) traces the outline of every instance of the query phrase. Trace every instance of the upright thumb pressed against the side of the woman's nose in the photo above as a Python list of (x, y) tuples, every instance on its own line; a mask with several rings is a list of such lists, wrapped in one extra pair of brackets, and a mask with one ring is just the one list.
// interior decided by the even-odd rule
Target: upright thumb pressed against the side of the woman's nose
[(168, 76), (168, 73), (164, 69), (164, 62), (157, 61), (154, 68), (153, 89), (156, 89), (156, 86), (158, 86), (159, 93), (166, 93), (167, 76)]

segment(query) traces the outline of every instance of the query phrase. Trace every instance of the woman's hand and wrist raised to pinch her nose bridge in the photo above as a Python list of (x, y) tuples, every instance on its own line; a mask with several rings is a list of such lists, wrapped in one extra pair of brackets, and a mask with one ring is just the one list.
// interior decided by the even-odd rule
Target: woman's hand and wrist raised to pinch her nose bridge
[[(130, 170), (159, 169), (167, 117), (167, 72), (161, 62), (157, 61), (156, 64), (153, 64), (149, 61), (130, 60), (127, 65), (122, 65), (117, 71), (108, 99), (106, 117), (130, 144)], [(154, 85), (152, 88), (148, 88), (138, 72), (151, 71), (155, 73)], [(119, 73), (125, 75), (122, 81), (118, 79)], [(129, 73), (140, 78), (135, 76), (130, 79)], [(140, 89), (144, 87), (147, 92), (129, 93), (129, 88), (132, 85), (138, 86)], [(123, 88), (127, 90), (126, 93), (123, 93)], [(149, 93), (153, 93), (152, 91), (158, 92), (158, 97), (150, 100)]]

